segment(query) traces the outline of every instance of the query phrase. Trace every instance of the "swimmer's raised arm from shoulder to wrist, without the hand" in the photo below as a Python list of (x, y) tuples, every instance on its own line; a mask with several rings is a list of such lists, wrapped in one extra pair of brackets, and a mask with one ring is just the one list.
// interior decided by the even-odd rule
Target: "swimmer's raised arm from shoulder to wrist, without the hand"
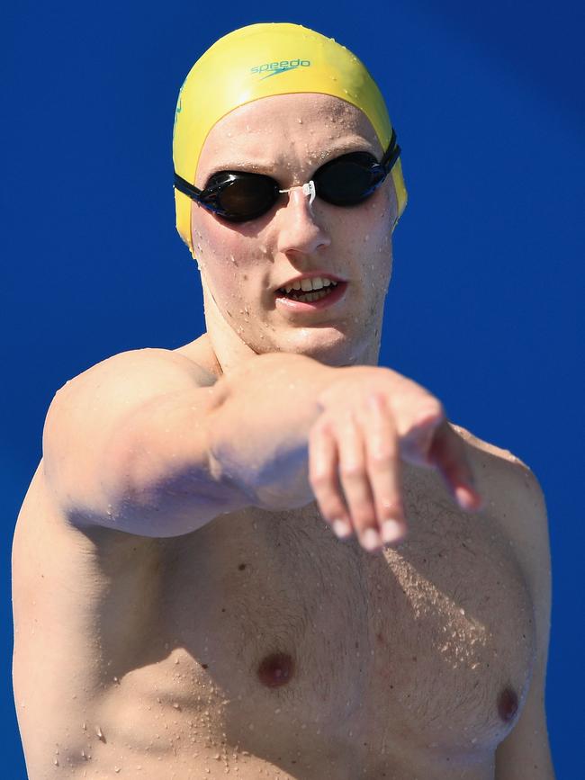
[(166, 350), (114, 355), (53, 399), (45, 480), (72, 524), (146, 536), (189, 533), (250, 505), (302, 506), (312, 498), (307, 431), (333, 371), (269, 354), (214, 381)]

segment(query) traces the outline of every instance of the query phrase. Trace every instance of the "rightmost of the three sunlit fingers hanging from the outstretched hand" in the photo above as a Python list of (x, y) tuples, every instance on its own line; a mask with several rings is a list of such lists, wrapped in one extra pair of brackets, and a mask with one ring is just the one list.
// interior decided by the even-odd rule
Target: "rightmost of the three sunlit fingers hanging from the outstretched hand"
[(402, 504), (401, 455), (396, 425), (383, 396), (373, 393), (366, 417), (366, 463), (383, 542), (406, 535)]

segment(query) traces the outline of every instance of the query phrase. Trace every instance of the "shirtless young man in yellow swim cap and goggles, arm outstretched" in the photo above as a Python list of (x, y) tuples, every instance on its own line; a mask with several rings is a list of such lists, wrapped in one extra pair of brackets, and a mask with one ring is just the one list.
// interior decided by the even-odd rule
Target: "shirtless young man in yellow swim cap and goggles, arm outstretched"
[(14, 539), (31, 780), (551, 780), (545, 504), (378, 366), (400, 148), (365, 67), (253, 25), (177, 105), (206, 333), (58, 391)]

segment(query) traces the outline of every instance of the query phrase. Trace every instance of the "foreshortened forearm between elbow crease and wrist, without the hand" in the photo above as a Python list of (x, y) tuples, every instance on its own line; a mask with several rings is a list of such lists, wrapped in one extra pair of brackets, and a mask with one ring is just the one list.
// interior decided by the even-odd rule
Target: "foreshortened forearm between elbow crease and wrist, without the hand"
[(346, 371), (304, 355), (266, 354), (230, 374), (211, 420), (217, 473), (256, 506), (308, 503), (309, 432), (322, 410), (321, 393)]

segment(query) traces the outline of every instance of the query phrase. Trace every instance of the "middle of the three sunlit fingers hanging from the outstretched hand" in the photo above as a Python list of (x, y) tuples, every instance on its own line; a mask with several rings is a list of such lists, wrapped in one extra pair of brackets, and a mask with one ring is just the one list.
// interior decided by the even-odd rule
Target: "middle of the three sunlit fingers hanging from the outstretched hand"
[(338, 420), (339, 479), (351, 522), (359, 541), (368, 551), (382, 546), (374, 498), (366, 470), (363, 426), (353, 413)]

